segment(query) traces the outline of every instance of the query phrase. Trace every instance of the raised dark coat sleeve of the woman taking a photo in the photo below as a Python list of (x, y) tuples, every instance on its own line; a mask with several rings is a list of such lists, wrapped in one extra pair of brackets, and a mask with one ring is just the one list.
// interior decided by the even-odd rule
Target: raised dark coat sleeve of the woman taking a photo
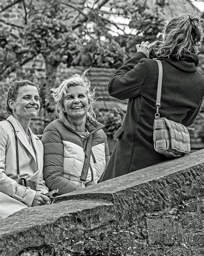
[(131, 99), (138, 96), (147, 73), (147, 56), (137, 52), (111, 77), (108, 82), (109, 95), (117, 99)]

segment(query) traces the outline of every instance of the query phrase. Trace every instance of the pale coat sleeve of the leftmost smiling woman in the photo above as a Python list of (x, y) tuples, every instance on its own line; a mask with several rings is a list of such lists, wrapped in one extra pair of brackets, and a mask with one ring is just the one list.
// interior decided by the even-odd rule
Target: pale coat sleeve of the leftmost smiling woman
[(8, 129), (3, 127), (3, 125), (0, 125), (0, 134), (0, 192), (30, 207), (36, 191), (30, 187), (20, 186), (14, 179), (6, 175), (6, 147), (15, 147), (15, 145), (10, 145), (11, 143), (8, 141)]

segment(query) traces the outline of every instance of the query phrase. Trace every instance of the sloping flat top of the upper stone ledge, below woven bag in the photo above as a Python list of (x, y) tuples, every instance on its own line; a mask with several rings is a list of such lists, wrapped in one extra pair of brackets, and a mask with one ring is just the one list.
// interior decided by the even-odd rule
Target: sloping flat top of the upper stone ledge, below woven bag
[[(146, 183), (155, 179), (160, 179), (173, 173), (178, 173), (187, 169), (194, 169), (195, 166), (203, 164), (204, 149), (198, 150), (185, 157), (179, 157), (176, 159), (173, 158), (163, 163), (158, 163), (156, 165), (148, 166), (141, 170), (137, 170), (135, 172), (128, 173), (114, 179), (106, 180), (94, 186), (84, 188), (83, 190), (60, 195), (56, 197), (56, 202), (59, 200), (67, 200), (73, 195), (85, 194), (106, 194), (106, 198), (104, 199), (111, 200), (111, 194), (115, 192), (138, 186), (139, 184)], [(110, 195), (110, 198), (108, 198), (107, 195)]]

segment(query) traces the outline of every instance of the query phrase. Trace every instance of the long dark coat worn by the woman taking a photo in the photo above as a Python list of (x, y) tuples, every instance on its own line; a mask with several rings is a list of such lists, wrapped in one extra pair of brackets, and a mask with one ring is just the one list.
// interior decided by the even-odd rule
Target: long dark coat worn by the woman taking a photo
[[(194, 62), (158, 59), (163, 66), (160, 116), (189, 126), (201, 108), (204, 76)], [(120, 67), (109, 81), (109, 95), (129, 101), (102, 181), (169, 160), (154, 149), (157, 85), (158, 64), (142, 52)]]

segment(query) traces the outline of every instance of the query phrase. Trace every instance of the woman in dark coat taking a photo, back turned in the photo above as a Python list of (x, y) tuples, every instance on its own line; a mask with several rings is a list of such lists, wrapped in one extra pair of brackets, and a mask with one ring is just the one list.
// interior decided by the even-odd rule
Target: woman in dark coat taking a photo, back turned
[(108, 93), (129, 101), (102, 181), (169, 160), (154, 148), (158, 89), (158, 63), (154, 58), (163, 67), (160, 116), (189, 126), (203, 102), (204, 77), (197, 68), (202, 38), (203, 29), (196, 14), (173, 18), (164, 27), (163, 41), (136, 45), (136, 54), (115, 72), (108, 83)]

